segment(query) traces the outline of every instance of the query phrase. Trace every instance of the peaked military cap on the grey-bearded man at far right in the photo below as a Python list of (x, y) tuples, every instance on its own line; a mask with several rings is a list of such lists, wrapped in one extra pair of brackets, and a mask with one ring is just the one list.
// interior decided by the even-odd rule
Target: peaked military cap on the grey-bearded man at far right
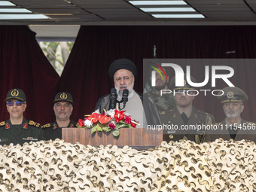
[[(222, 92), (223, 91), (223, 92)], [(218, 92), (218, 99), (221, 102), (243, 102), (248, 100), (246, 93), (238, 87), (225, 87), (222, 91)], [(224, 93), (222, 96), (221, 94)]]

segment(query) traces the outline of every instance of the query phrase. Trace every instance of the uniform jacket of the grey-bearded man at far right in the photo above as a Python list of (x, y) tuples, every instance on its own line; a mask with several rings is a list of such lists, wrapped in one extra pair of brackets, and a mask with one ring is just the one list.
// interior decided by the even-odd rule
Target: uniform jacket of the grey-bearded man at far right
[[(209, 133), (206, 134), (206, 142), (214, 142), (216, 139), (220, 139), (220, 138), (227, 141), (230, 140), (231, 136), (228, 130), (230, 129), (230, 127), (227, 127), (226, 124), (227, 124), (226, 120), (223, 120), (221, 123), (216, 123), (215, 126), (218, 127), (218, 130), (209, 130)], [(236, 125), (236, 127), (235, 126), (232, 127), (233, 130), (237, 130), (236, 136), (233, 140), (241, 141), (242, 139), (245, 139), (246, 141), (251, 141), (256, 143), (255, 128), (256, 128), (255, 123), (248, 122), (241, 118), (241, 123)]]

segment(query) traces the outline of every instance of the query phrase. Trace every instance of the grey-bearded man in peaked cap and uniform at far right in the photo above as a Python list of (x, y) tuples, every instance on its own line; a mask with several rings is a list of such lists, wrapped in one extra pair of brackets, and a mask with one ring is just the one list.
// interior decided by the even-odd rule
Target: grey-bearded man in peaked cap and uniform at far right
[(245, 107), (242, 102), (247, 101), (248, 96), (238, 87), (225, 87), (222, 91), (224, 94), (221, 96), (219, 92), (218, 99), (223, 103), (226, 118), (221, 123), (215, 124), (218, 129), (211, 130), (211, 134), (206, 135), (206, 142), (214, 142), (219, 138), (256, 142), (255, 123), (248, 122), (240, 116)]

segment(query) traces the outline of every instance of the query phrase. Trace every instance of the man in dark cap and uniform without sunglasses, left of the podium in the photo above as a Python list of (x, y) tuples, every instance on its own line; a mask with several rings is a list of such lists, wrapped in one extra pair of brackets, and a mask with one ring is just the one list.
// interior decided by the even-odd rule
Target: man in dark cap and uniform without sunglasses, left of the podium
[(70, 119), (74, 105), (70, 93), (57, 93), (53, 103), (56, 121), (43, 126), (45, 140), (62, 139), (62, 127), (78, 127), (78, 123)]

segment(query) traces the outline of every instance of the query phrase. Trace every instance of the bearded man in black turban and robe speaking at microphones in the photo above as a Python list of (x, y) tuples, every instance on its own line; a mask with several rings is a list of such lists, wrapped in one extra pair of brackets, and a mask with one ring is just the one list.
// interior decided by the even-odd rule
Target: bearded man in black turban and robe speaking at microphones
[[(128, 90), (128, 101), (126, 102), (125, 107), (123, 108), (123, 102), (120, 102), (118, 105), (119, 110), (125, 110), (129, 113), (133, 119), (138, 120), (140, 126), (136, 127), (145, 127), (146, 121), (148, 119), (158, 118), (157, 114), (145, 114), (146, 111), (157, 111), (153, 103), (146, 101), (147, 110), (143, 108), (142, 93), (138, 93), (133, 90), (133, 85), (137, 75), (137, 69), (135, 64), (130, 59), (117, 59), (112, 62), (111, 66), (108, 69), (108, 75), (111, 79), (114, 80), (114, 87), (117, 90), (117, 101), (121, 101), (123, 98), (123, 90)], [(148, 98), (144, 98), (148, 99)], [(118, 103), (118, 102), (117, 102)], [(96, 103), (95, 110), (99, 109), (99, 112), (102, 113), (105, 109), (108, 111), (111, 108), (111, 95), (102, 96)], [(117, 108), (117, 105), (116, 105)], [(154, 108), (154, 110), (153, 110)], [(146, 117), (147, 120), (146, 120)], [(159, 121), (157, 121), (159, 123)]]

